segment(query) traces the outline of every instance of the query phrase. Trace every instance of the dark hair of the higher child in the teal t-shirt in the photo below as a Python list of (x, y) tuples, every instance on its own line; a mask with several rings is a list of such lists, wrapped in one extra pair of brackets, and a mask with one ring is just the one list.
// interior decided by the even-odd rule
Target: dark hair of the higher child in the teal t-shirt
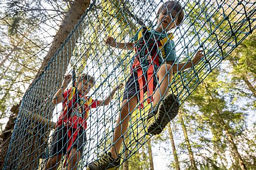
[(181, 4), (178, 1), (167, 1), (164, 4), (162, 4), (162, 6), (158, 9), (157, 16), (159, 16), (160, 12), (164, 8), (167, 8), (167, 11), (175, 11), (178, 14), (178, 16), (176, 16), (178, 17), (176, 25), (180, 25), (184, 18), (184, 11), (183, 8), (181, 7)]

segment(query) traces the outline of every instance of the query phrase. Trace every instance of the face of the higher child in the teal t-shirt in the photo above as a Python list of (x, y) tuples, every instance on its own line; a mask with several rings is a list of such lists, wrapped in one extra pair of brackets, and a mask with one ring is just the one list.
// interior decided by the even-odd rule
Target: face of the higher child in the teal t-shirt
[[(159, 18), (157, 18), (157, 29), (156, 31), (162, 32), (162, 31), (170, 31), (171, 28), (175, 28), (175, 23), (178, 21), (178, 17), (176, 17), (178, 13), (174, 10), (171, 12), (168, 12), (167, 9), (163, 9), (159, 13)], [(176, 18), (175, 18), (176, 17)], [(172, 19), (175, 18), (173, 21)], [(173, 22), (172, 22), (173, 21)]]

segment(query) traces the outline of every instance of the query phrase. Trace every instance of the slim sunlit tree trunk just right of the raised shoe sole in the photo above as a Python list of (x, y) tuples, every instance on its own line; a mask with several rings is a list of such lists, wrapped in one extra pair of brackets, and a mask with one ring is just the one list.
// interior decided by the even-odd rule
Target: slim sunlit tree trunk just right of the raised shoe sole
[(191, 146), (190, 146), (190, 143), (189, 143), (189, 139), (188, 139), (187, 129), (185, 127), (185, 124), (184, 124), (183, 117), (182, 117), (181, 113), (179, 114), (179, 118), (180, 118), (180, 123), (181, 123), (182, 129), (183, 129), (184, 137), (185, 137), (185, 142), (186, 142), (187, 147), (188, 147), (188, 154), (189, 154), (189, 159), (190, 159), (190, 162), (191, 162), (191, 166), (192, 166), (193, 170), (197, 170), (196, 162), (194, 161), (193, 152), (192, 152), (192, 149), (191, 149)]

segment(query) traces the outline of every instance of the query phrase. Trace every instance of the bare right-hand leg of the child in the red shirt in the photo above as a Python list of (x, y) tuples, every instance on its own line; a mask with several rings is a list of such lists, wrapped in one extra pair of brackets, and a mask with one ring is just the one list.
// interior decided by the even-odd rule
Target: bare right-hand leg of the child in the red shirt
[[(77, 152), (78, 151), (78, 152)], [(68, 167), (67, 170), (76, 170), (78, 162), (80, 161), (81, 153), (77, 150), (77, 147), (73, 147), (68, 157)]]

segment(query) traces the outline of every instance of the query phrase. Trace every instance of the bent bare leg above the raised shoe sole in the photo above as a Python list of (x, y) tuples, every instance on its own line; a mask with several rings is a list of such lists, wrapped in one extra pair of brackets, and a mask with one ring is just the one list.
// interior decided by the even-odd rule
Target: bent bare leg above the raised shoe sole
[(168, 85), (171, 83), (171, 79), (173, 76), (173, 68), (169, 64), (163, 64), (160, 66), (160, 69), (157, 71), (157, 77), (159, 78), (160, 88), (155, 90), (155, 94), (153, 95), (153, 106), (157, 105), (160, 99), (164, 99), (164, 97), (168, 94), (169, 91)]

